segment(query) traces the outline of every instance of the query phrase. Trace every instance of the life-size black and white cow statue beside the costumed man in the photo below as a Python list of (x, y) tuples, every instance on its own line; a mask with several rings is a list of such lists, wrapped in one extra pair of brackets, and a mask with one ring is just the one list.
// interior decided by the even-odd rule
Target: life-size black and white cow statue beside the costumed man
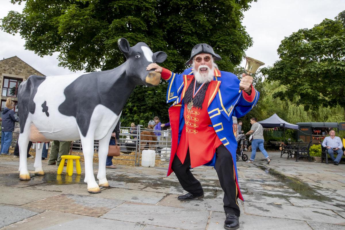
[[(29, 140), (36, 145), (51, 140), (81, 140), (88, 191), (99, 193), (99, 186), (109, 186), (106, 158), (111, 133), (134, 88), (159, 84), (160, 73), (147, 71), (146, 67), (167, 58), (165, 52), (153, 53), (144, 42), (130, 47), (128, 41), (121, 38), (118, 45), (127, 61), (115, 69), (65, 76), (32, 75), (20, 84), (20, 180), (30, 180), (26, 158)], [(99, 140), (98, 184), (92, 168), (94, 140)], [(41, 156), (42, 148), (37, 146), (35, 174), (44, 175)]]

